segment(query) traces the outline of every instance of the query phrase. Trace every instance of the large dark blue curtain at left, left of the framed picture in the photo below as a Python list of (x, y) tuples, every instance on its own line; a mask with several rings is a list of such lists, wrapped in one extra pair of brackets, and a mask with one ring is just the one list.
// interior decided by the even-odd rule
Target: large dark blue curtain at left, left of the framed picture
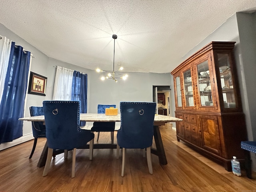
[(10, 59), (0, 103), (0, 144), (22, 136), (24, 102), (28, 84), (30, 52), (12, 42)]

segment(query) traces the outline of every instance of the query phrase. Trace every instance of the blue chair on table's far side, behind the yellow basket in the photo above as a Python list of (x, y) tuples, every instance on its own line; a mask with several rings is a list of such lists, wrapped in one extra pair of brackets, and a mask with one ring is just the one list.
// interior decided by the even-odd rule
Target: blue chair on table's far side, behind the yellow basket
[[(100, 105), (98, 104), (98, 113), (105, 114), (105, 109), (116, 105)], [(116, 122), (94, 122), (91, 128), (92, 132), (98, 132), (97, 141), (99, 140), (100, 132), (110, 132), (111, 142), (114, 143), (114, 130)]]

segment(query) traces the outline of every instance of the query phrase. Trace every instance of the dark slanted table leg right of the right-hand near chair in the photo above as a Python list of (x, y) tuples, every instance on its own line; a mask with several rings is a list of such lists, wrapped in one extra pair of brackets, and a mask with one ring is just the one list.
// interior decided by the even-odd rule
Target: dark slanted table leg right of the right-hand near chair
[(154, 139), (156, 143), (156, 150), (151, 148), (151, 153), (155, 154), (159, 158), (159, 163), (162, 165), (167, 164), (166, 155), (164, 152), (164, 145), (160, 134), (159, 126), (154, 126)]

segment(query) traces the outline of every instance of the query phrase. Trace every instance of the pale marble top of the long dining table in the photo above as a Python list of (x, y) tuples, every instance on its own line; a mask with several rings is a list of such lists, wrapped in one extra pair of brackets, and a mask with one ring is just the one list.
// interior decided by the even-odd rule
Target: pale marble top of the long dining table
[[(22, 121), (44, 121), (44, 115), (41, 116), (32, 116), (32, 117), (23, 117), (19, 118)], [(93, 114), (93, 113), (81, 113), (80, 121), (88, 122), (120, 122), (121, 117), (118, 115), (105, 115), (105, 114)], [(155, 114), (154, 122), (178, 122), (183, 121), (182, 119)]]

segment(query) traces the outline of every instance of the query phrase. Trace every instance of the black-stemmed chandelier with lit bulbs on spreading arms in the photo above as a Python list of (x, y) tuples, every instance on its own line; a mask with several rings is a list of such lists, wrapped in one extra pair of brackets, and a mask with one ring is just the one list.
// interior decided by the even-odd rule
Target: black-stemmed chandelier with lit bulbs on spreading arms
[(118, 70), (115, 71), (115, 40), (117, 39), (117, 35), (112, 35), (112, 38), (114, 39), (114, 60), (113, 60), (113, 71), (103, 71), (100, 70), (99, 68), (96, 69), (97, 72), (106, 72), (108, 73), (107, 76), (103, 76), (102, 78), (100, 78), (101, 80), (105, 80), (105, 79), (112, 79), (115, 80), (115, 82), (117, 82), (116, 79), (123, 79), (126, 80), (126, 78), (128, 77), (128, 75), (124, 75), (124, 74), (119, 74), (117, 72), (123, 70), (124, 68), (120, 67)]

